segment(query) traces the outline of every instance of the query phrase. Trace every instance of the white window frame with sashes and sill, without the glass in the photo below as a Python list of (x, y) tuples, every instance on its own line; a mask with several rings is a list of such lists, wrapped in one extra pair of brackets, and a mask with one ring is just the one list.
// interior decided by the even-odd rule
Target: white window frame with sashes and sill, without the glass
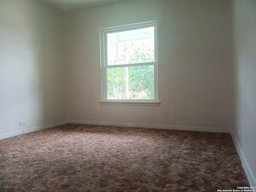
[[(154, 62), (143, 63), (143, 64), (120, 64), (114, 66), (108, 66), (108, 55), (107, 55), (107, 34), (122, 32), (128, 30), (136, 30), (140, 28), (154, 27), (154, 48), (155, 48), (155, 60)], [(142, 22), (136, 24), (129, 24), (123, 26), (115, 26), (109, 28), (100, 29), (100, 68), (101, 68), (101, 95), (102, 105), (135, 105), (135, 106), (159, 106), (158, 100), (158, 40), (157, 40), (157, 21)], [(127, 66), (138, 66), (154, 64), (154, 99), (107, 99), (107, 68), (110, 67), (127, 67)]]

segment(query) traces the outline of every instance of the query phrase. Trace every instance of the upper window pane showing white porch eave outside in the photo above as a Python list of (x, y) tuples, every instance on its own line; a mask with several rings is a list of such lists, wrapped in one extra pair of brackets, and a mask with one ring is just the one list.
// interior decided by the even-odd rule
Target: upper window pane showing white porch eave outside
[(107, 34), (108, 65), (154, 62), (154, 27)]

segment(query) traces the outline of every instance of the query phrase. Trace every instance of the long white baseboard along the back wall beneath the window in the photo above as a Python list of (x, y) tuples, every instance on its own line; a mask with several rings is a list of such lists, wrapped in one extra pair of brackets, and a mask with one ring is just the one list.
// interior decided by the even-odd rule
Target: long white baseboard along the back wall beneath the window
[(92, 124), (92, 125), (112, 125), (112, 126), (124, 126), (124, 127), (142, 127), (142, 128), (156, 128), (156, 129), (170, 129), (170, 130), (184, 130), (184, 131), (204, 131), (204, 132), (230, 133), (230, 129), (208, 128), (208, 127), (153, 125), (153, 124), (136, 124), (136, 123), (117, 123), (117, 122), (83, 121), (83, 120), (69, 120), (68, 123)]

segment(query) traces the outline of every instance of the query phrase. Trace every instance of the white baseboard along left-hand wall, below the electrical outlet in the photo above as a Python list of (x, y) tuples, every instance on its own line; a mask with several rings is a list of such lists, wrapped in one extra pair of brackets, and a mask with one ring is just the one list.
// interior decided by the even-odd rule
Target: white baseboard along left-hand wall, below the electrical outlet
[(64, 124), (67, 124), (67, 123), (68, 123), (68, 121), (60, 121), (60, 122), (56, 122), (56, 123), (51, 123), (51, 124), (46, 124), (46, 125), (37, 126), (37, 127), (33, 127), (33, 128), (28, 128), (28, 129), (24, 129), (24, 130), (19, 130), (19, 131), (15, 131), (15, 132), (1, 134), (0, 135), (0, 140), (8, 138), (8, 137), (17, 136), (17, 135), (20, 135), (20, 134), (26, 134), (26, 133), (30, 133), (30, 132), (34, 132), (34, 131), (38, 131), (38, 130), (42, 130), (42, 129), (47, 129), (47, 128), (51, 128), (51, 127), (55, 127), (55, 126), (64, 125)]

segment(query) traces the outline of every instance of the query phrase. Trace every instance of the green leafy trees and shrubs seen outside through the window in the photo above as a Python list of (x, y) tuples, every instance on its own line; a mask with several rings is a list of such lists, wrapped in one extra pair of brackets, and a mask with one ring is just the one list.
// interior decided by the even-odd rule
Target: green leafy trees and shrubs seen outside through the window
[[(125, 55), (128, 64), (154, 62), (154, 42), (135, 43), (126, 50)], [(107, 77), (108, 99), (154, 99), (155, 97), (153, 64), (108, 68)], [(126, 98), (127, 90), (128, 98)]]

